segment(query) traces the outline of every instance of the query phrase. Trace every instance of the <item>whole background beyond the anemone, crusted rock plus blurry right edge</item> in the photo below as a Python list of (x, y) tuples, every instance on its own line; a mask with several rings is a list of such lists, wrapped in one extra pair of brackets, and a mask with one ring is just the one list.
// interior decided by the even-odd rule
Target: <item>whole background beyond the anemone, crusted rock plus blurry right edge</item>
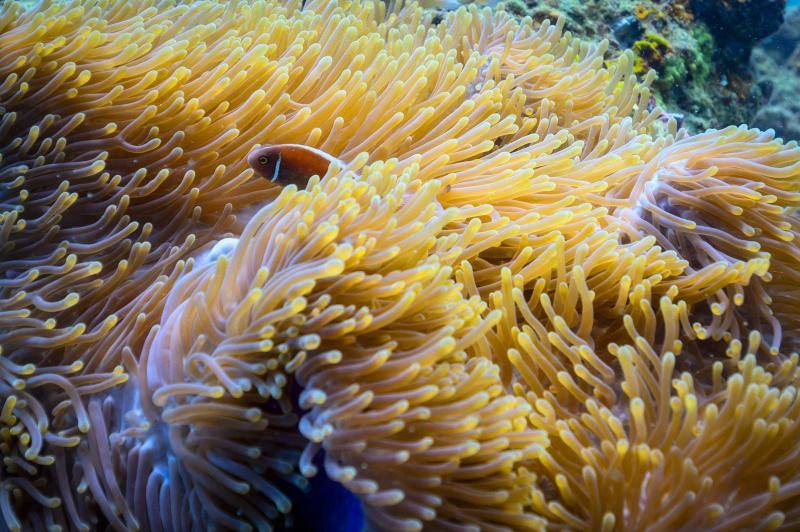
[[(432, 5), (436, 2), (432, 2)], [(658, 73), (655, 100), (690, 131), (752, 124), (800, 138), (800, 2), (795, 0), (507, 0), (534, 19), (562, 16), (587, 39), (632, 50)]]

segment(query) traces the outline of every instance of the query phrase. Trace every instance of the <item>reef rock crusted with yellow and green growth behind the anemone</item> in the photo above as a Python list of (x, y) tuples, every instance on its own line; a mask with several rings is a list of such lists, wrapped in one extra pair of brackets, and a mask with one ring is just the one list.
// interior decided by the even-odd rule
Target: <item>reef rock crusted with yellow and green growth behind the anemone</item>
[(748, 62), (783, 20), (785, 0), (507, 0), (534, 20), (562, 17), (584, 39), (632, 50), (640, 76), (658, 74), (655, 102), (689, 131), (752, 120), (769, 100)]

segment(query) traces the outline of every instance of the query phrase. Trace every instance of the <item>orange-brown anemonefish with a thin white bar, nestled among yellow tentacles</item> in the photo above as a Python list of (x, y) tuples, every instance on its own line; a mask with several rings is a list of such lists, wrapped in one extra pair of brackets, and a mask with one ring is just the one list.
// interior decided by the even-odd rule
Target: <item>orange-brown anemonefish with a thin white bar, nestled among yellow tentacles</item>
[(322, 150), (302, 144), (271, 144), (253, 149), (247, 163), (258, 175), (281, 186), (305, 188), (311, 176), (324, 176), (331, 163), (345, 164)]

